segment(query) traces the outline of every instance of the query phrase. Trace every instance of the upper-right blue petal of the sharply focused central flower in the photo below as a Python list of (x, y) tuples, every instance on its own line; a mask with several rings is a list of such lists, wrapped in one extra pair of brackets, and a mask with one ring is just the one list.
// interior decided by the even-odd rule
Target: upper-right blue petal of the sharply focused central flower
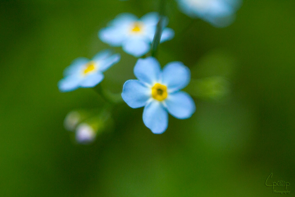
[(163, 84), (167, 85), (169, 92), (186, 87), (191, 80), (191, 71), (182, 62), (168, 63), (163, 69)]

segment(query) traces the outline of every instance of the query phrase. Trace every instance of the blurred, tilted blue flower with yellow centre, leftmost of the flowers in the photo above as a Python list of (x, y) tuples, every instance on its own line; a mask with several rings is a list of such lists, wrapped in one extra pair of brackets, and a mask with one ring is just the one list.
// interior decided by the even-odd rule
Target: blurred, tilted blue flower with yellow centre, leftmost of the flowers
[(97, 53), (92, 60), (77, 58), (64, 70), (58, 88), (61, 92), (68, 92), (79, 87), (94, 87), (104, 79), (103, 72), (119, 60), (120, 55), (112, 54), (110, 50)]

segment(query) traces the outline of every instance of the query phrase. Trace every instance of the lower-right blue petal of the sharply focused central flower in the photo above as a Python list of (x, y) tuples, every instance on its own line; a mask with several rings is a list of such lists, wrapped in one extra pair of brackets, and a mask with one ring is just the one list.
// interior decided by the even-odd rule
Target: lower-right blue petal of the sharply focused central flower
[(174, 92), (165, 100), (168, 112), (175, 118), (186, 119), (196, 111), (196, 105), (191, 96), (186, 92)]

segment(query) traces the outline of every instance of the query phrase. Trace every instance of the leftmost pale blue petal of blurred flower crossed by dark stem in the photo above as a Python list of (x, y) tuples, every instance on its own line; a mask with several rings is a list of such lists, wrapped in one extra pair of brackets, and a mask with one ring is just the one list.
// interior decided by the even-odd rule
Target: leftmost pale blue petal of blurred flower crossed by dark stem
[(111, 46), (121, 46), (122, 42), (126, 39), (126, 35), (119, 27), (106, 27), (98, 32), (98, 37), (104, 43)]

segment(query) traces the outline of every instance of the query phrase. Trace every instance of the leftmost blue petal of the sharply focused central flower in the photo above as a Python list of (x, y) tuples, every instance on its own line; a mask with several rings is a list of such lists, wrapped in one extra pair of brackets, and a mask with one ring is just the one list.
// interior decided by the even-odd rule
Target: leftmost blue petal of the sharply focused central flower
[(138, 80), (128, 80), (123, 85), (122, 98), (132, 108), (143, 107), (150, 98), (150, 88)]

